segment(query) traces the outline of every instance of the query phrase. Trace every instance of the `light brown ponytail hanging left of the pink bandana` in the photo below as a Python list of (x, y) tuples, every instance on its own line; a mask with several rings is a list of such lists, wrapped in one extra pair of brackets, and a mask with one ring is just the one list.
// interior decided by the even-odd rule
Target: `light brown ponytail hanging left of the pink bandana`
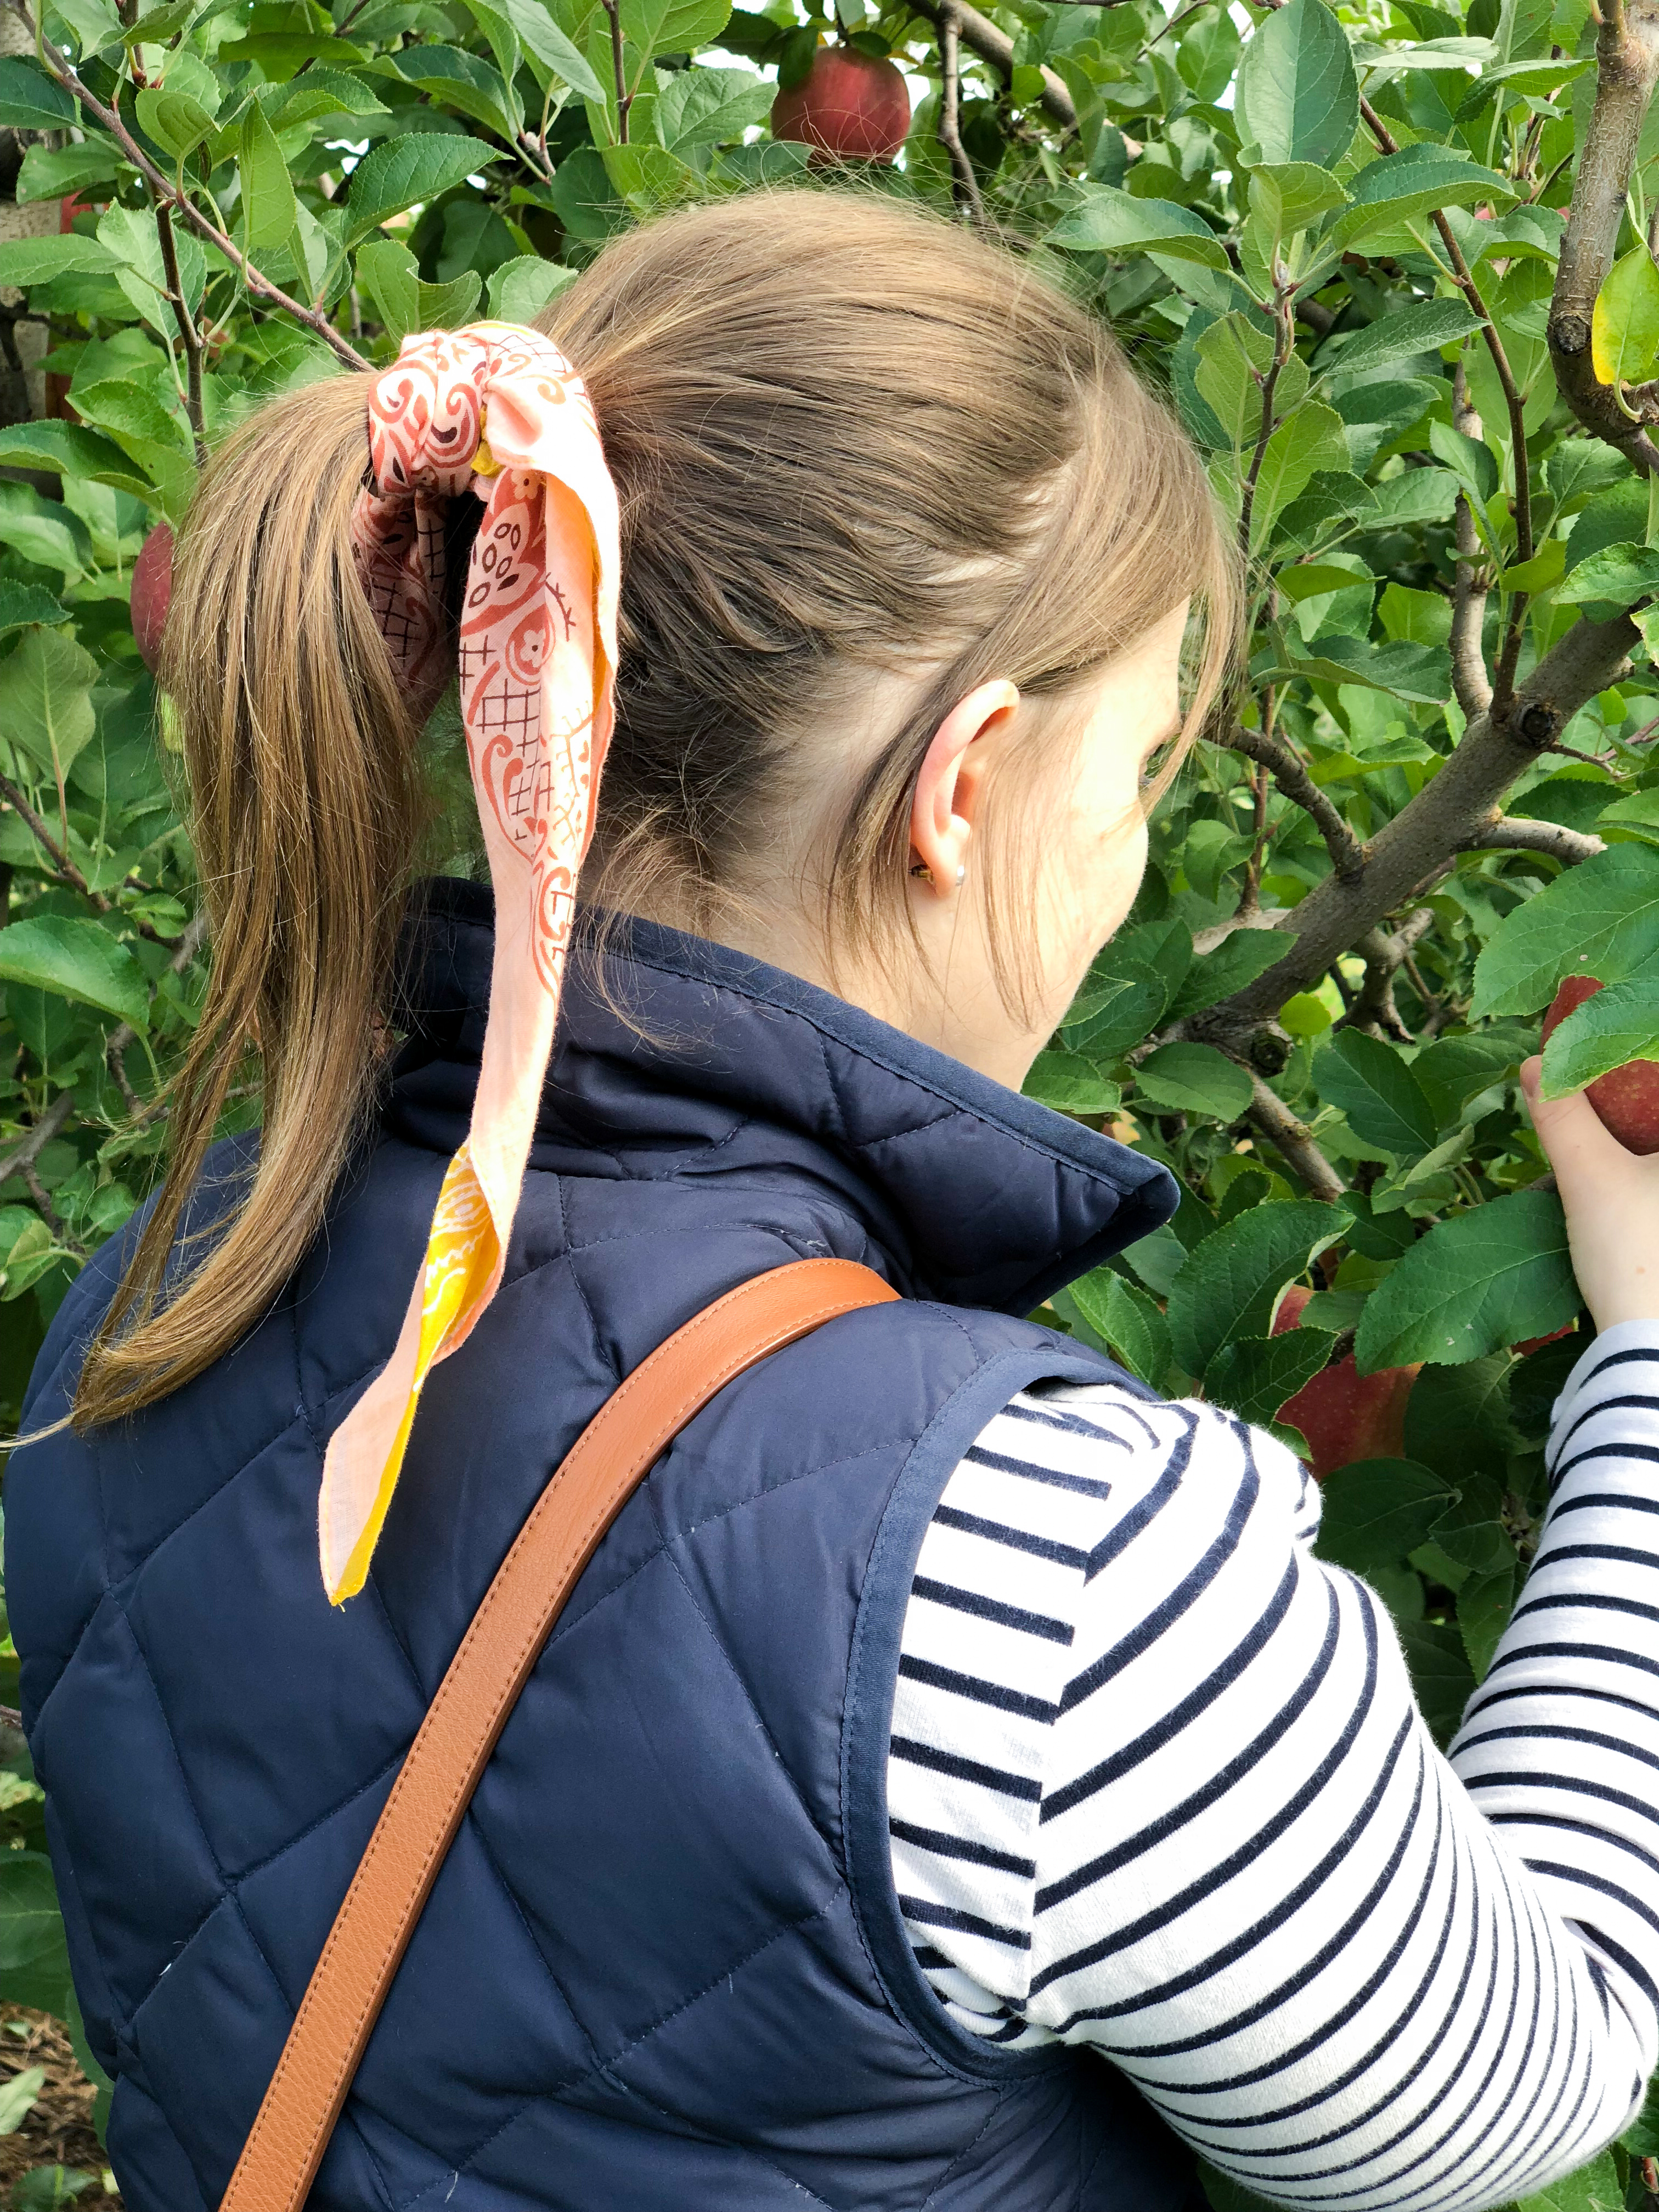
[[(212, 973), (170, 1086), (166, 1181), (82, 1369), (77, 1429), (166, 1396), (259, 1321), (374, 1097), (425, 816), (418, 728), (352, 562), (365, 387), (330, 378), (259, 414), (208, 469), (175, 551), (161, 688)], [(215, 1128), (252, 1079), (259, 1161), (228, 1225), (175, 1252)]]

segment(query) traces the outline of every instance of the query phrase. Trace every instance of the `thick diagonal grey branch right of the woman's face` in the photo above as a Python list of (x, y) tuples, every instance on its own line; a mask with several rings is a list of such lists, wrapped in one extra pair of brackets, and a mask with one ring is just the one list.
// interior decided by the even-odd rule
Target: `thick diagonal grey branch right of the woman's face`
[(1471, 721), (1440, 774), (1363, 847), (1356, 874), (1332, 874), (1279, 922), (1285, 958), (1219, 1006), (1188, 1015), (1186, 1035), (1239, 1051), (1296, 991), (1358, 945), (1367, 929), (1433, 880), (1464, 838), (1493, 821), (1509, 785), (1546, 752), (1586, 699), (1606, 690), (1637, 644), (1628, 615), (1575, 622), (1506, 708)]

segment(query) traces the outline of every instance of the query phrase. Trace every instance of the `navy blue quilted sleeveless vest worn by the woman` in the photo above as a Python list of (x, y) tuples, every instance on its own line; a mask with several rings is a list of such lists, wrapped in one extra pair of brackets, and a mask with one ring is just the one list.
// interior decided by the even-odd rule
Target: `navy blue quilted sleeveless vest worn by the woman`
[[(611, 984), (650, 1042), (577, 969), (507, 1283), (427, 1385), (369, 1588), (330, 1610), (321, 1458), (465, 1135), (489, 911), (429, 894), (378, 1141), (274, 1310), (139, 1420), (11, 1462), (24, 1719), (126, 2203), (217, 2205), (398, 1761), (584, 1422), (710, 1298), (841, 1254), (916, 1303), (726, 1389), (626, 1506), (312, 2208), (1170, 2212), (1190, 2163), (1106, 2064), (949, 2022), (885, 1823), (938, 1493), (1024, 1383), (1110, 1371), (1015, 1316), (1164, 1221), (1168, 1177), (794, 978), (633, 927)], [(246, 1152), (217, 1157), (223, 1190)], [(64, 1409), (117, 1265), (71, 1292), (31, 1422)]]

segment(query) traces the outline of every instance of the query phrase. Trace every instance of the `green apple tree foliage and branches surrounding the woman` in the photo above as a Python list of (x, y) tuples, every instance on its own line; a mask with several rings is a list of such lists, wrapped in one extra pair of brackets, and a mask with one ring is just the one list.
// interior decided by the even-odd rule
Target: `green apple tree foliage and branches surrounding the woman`
[[(0, 1420), (155, 1175), (199, 1004), (128, 593), (204, 453), (407, 330), (533, 314), (659, 206), (916, 197), (1113, 321), (1252, 562), (1248, 677), (1031, 1079), (1186, 1197), (1055, 1318), (1256, 1420), (1345, 1358), (1422, 1363), (1325, 1548), (1444, 1739), (1588, 1327), (1515, 1068), (1566, 973), (1608, 989), (1551, 1082), (1659, 1057), (1650, 0), (31, 7), (0, 4)], [(894, 168), (768, 137), (823, 40), (914, 80)], [(73, 2024), (7, 1750), (0, 1995)], [(1652, 2212), (1655, 2152), (1650, 2106), (1551, 2201)]]

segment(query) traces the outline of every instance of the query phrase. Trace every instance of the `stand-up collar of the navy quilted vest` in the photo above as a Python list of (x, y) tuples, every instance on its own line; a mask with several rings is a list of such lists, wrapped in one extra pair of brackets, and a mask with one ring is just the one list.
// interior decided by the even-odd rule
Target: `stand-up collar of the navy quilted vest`
[[(405, 938), (387, 1124), (436, 1150), (467, 1133), (491, 922), (484, 887), (440, 878)], [(1166, 1168), (1082, 1121), (799, 975), (637, 918), (577, 938), (531, 1168), (805, 1183), (860, 1217), (907, 1296), (1013, 1314), (1179, 1201)]]

